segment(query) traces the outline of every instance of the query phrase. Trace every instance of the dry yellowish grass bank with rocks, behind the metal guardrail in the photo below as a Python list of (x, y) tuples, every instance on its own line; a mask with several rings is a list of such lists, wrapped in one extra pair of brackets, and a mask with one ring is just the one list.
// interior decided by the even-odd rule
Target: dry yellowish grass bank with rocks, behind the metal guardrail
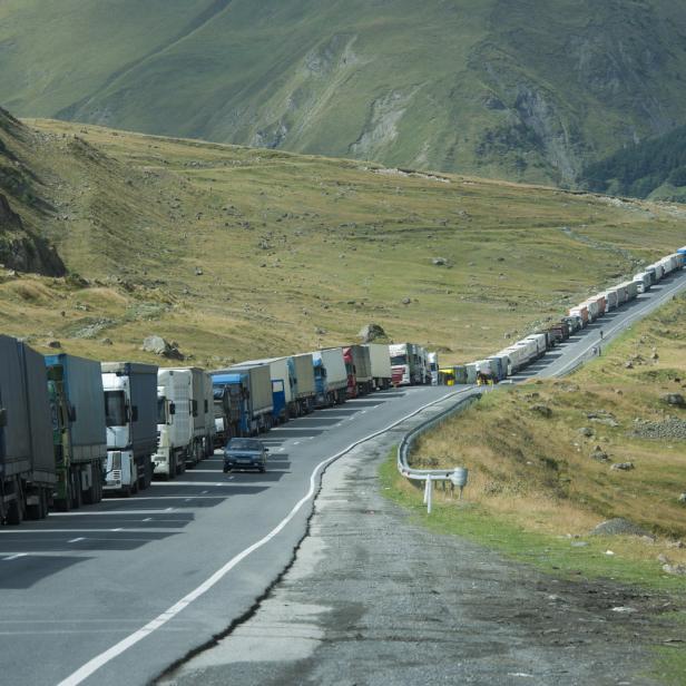
[[(614, 575), (626, 565), (637, 579), (686, 589), (686, 577), (665, 575), (657, 559), (686, 564), (686, 546), (675, 542), (686, 539), (686, 506), (678, 500), (686, 491), (686, 440), (649, 438), (670, 421), (686, 421), (685, 410), (663, 400), (686, 388), (685, 315), (680, 296), (574, 375), (491, 393), (423, 437), (414, 465), (470, 469), (467, 509), (445, 500), (439, 517), (457, 531), (472, 518), (478, 537), (488, 538), (491, 526), (521, 531), (539, 541), (538, 553), (545, 546), (566, 551), (567, 568), (590, 556), (596, 574)], [(635, 469), (610, 468), (626, 462)], [(405, 490), (416, 500), (411, 487)], [(655, 540), (588, 536), (615, 517), (638, 523)], [(498, 539), (509, 545), (509, 537)], [(578, 540), (584, 547), (571, 549)], [(607, 548), (615, 555), (601, 555)], [(541, 561), (560, 565), (548, 552)]]

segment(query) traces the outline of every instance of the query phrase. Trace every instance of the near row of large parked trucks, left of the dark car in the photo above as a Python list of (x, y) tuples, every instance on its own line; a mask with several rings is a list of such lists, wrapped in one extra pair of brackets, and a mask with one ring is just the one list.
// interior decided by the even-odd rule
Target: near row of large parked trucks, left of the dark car
[(429, 355), (412, 343), (207, 372), (43, 356), (0, 335), (0, 521), (41, 519), (49, 508), (76, 509), (107, 492), (130, 496), (154, 477), (174, 479), (231, 438), (410, 383), (431, 383)]

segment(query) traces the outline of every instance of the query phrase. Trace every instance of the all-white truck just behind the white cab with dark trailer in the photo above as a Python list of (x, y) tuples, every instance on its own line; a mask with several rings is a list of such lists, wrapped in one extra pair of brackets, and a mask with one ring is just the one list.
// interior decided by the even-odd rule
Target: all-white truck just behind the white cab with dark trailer
[(155, 474), (174, 479), (186, 465), (193, 443), (192, 376), (188, 370), (157, 372), (157, 450)]

